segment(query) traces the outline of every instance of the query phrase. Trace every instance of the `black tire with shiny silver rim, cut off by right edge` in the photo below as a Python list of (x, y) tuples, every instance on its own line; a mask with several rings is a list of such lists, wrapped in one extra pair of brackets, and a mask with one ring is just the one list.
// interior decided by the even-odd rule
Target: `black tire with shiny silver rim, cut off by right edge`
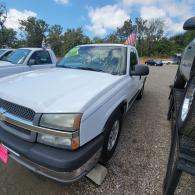
[(195, 74), (185, 88), (177, 116), (177, 125), (180, 134), (195, 138)]

